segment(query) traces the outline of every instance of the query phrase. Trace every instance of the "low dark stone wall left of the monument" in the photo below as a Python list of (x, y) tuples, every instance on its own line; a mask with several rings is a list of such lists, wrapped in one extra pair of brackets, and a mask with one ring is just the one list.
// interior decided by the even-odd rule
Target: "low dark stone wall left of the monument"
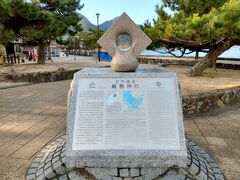
[(5, 79), (14, 82), (30, 82), (30, 83), (44, 83), (73, 79), (74, 73), (80, 69), (74, 70), (58, 70), (52, 72), (36, 72), (23, 74), (6, 74)]

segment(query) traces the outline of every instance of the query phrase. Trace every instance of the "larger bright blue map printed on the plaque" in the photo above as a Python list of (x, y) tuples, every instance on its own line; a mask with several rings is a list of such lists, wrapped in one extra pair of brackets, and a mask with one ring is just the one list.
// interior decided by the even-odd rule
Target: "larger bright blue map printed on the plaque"
[(139, 110), (143, 97), (134, 97), (132, 91), (123, 91), (123, 102), (127, 104), (128, 110)]

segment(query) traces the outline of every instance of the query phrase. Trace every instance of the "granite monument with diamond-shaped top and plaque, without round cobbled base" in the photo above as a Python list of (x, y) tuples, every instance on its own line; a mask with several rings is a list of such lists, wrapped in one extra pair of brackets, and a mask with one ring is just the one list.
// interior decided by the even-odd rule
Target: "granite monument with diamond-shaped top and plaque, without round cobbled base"
[[(119, 169), (126, 171), (127, 178), (133, 177), (128, 170), (139, 175), (140, 169), (155, 168), (161, 174), (169, 167), (185, 167), (176, 74), (163, 68), (136, 69), (136, 56), (151, 40), (126, 13), (98, 42), (113, 56), (111, 68), (117, 72), (86, 68), (74, 75), (68, 103), (67, 166), (104, 168), (105, 174), (93, 173), (99, 179), (111, 176), (114, 169), (116, 176)], [(151, 173), (145, 176), (154, 178)]]

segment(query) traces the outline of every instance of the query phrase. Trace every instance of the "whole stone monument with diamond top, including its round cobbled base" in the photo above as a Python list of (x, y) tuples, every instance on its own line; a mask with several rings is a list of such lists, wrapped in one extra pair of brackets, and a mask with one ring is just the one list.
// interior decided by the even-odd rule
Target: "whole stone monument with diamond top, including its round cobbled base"
[(186, 147), (176, 74), (137, 68), (150, 42), (125, 13), (103, 35), (113, 71), (74, 74), (67, 137), (38, 153), (28, 180), (224, 179), (201, 148), (189, 140)]

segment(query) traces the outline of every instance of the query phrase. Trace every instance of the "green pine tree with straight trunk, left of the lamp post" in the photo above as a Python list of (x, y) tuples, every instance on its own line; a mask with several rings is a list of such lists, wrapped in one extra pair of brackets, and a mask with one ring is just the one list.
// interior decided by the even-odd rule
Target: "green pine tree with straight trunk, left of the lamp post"
[(45, 48), (52, 39), (81, 30), (77, 0), (0, 1), (0, 43), (26, 37), (39, 46), (38, 63), (45, 63)]

